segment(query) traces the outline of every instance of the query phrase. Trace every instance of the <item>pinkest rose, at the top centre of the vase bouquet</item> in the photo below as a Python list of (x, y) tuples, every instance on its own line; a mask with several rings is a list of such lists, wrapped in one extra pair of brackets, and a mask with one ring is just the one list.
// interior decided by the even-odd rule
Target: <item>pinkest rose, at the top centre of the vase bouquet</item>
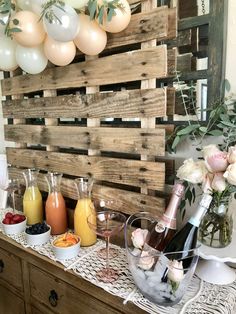
[(214, 155), (208, 156), (205, 159), (205, 164), (210, 172), (223, 172), (228, 167), (227, 153), (220, 151)]

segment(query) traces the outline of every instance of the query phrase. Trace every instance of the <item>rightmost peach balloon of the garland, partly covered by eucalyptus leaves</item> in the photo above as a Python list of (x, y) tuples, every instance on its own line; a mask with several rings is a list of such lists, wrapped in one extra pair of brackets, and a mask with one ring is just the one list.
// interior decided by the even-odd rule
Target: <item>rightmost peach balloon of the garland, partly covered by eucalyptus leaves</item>
[(123, 9), (115, 9), (116, 15), (112, 16), (110, 22), (107, 21), (105, 16), (103, 19), (103, 24), (100, 25), (102, 29), (109, 33), (119, 33), (123, 31), (130, 22), (131, 10), (128, 1), (119, 0), (119, 4), (123, 6)]

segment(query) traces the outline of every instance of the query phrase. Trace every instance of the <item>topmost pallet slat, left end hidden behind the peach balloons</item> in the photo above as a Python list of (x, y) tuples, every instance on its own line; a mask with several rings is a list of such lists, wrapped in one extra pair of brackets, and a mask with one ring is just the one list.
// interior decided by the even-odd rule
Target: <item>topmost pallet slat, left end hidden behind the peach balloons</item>
[[(169, 9), (162, 6), (149, 12), (131, 16), (129, 26), (122, 32), (108, 33), (106, 49), (157, 39), (158, 41), (171, 38), (173, 31), (168, 33)], [(170, 19), (176, 20), (172, 14)], [(174, 24), (174, 22), (172, 22)]]

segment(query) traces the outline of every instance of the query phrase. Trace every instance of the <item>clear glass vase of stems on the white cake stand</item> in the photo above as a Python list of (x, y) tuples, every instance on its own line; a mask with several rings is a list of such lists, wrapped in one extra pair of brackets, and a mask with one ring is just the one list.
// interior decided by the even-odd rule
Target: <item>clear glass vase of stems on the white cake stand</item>
[(199, 241), (214, 248), (223, 248), (230, 244), (233, 232), (232, 206), (230, 196), (213, 199), (199, 227)]

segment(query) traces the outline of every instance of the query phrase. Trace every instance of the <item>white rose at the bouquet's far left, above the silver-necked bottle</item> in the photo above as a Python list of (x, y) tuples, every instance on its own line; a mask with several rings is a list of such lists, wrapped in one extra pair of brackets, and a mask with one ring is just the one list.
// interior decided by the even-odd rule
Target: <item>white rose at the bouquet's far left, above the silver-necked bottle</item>
[(190, 183), (202, 183), (205, 180), (207, 169), (203, 160), (193, 161), (192, 158), (184, 161), (177, 171), (177, 177)]

